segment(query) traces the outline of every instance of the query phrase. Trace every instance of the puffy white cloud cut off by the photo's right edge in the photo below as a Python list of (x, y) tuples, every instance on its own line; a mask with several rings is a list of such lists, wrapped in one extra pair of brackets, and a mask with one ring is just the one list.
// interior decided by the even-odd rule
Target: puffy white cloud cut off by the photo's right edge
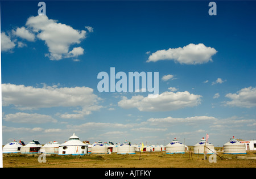
[(243, 88), (237, 93), (228, 93), (225, 97), (231, 101), (225, 101), (226, 105), (238, 106), (241, 108), (252, 108), (256, 106), (256, 88)]

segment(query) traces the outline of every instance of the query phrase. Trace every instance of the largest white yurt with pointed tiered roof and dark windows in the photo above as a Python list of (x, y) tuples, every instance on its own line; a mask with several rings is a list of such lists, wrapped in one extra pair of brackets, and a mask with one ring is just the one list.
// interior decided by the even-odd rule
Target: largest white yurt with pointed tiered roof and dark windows
[(69, 140), (59, 146), (59, 155), (85, 155), (88, 152), (88, 146), (79, 140), (75, 133), (69, 137)]

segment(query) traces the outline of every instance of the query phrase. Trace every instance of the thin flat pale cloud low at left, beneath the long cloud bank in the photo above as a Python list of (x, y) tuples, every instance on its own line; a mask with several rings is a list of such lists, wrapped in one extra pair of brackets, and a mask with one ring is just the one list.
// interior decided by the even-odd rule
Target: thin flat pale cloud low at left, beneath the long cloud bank
[(47, 122), (57, 122), (51, 116), (45, 114), (28, 114), (28, 113), (15, 113), (6, 114), (3, 116), (3, 120), (14, 122), (14, 123), (47, 123)]

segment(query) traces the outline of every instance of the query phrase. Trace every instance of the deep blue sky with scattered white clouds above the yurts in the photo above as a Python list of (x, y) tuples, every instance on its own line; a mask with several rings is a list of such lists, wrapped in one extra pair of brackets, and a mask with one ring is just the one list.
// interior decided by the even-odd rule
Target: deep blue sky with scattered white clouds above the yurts
[[(3, 144), (256, 138), (255, 1), (38, 2), (1, 1)], [(159, 72), (159, 97), (98, 92), (110, 67)]]

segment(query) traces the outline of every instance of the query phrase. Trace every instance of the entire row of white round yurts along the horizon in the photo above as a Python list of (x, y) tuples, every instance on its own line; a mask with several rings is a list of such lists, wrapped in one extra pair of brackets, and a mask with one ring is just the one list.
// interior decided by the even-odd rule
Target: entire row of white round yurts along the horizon
[[(206, 146), (206, 147), (205, 147)], [(3, 147), (3, 154), (21, 153), (21, 154), (58, 154), (58, 155), (85, 155), (85, 154), (111, 154), (111, 152), (117, 152), (117, 154), (135, 154), (141, 150), (141, 145), (130, 144), (127, 140), (122, 144), (114, 145), (113, 143), (102, 143), (101, 141), (94, 144), (85, 144), (81, 142), (79, 137), (73, 134), (69, 140), (65, 143), (59, 144), (58, 142), (48, 142), (42, 146), (38, 140), (25, 145), (23, 142), (7, 143)], [(206, 154), (213, 154), (214, 145), (208, 143), (204, 138), (193, 147), (194, 154), (204, 154), (206, 148)], [(176, 138), (167, 146), (144, 146), (143, 151), (165, 151), (166, 154), (184, 154), (188, 151), (188, 146), (180, 143)], [(229, 142), (224, 144), (224, 154), (246, 154), (245, 144), (238, 141), (236, 138), (230, 138)]]

